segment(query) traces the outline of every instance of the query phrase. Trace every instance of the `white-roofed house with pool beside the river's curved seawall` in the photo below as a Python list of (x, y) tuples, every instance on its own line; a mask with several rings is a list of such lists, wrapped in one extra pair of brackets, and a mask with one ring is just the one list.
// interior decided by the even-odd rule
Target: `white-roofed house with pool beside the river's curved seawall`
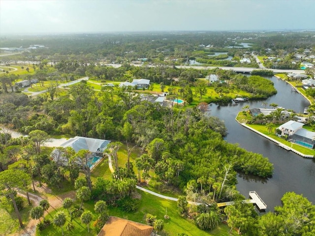
[(314, 149), (315, 147), (315, 132), (302, 129), (303, 123), (297, 121), (288, 121), (279, 126), (281, 135), (288, 135), (287, 140), (301, 146)]

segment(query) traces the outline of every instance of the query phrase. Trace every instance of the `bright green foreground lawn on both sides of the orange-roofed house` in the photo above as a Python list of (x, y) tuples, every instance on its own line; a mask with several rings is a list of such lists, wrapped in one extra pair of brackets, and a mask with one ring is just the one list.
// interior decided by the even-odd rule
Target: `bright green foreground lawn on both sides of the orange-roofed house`
[[(186, 233), (188, 236), (236, 236), (237, 233), (233, 232), (229, 234), (229, 228), (221, 224), (220, 227), (213, 231), (203, 231), (195, 226), (194, 222), (182, 218), (177, 212), (177, 203), (173, 201), (163, 200), (153, 195), (138, 192), (141, 196), (141, 203), (139, 210), (137, 212), (126, 213), (118, 207), (109, 206), (109, 215), (121, 217), (127, 220), (132, 220), (136, 222), (140, 222), (146, 224), (145, 216), (147, 213), (153, 214), (157, 216), (157, 219), (162, 219), (164, 221), (164, 229), (163, 232), (160, 232), (159, 235), (174, 235), (177, 236), (179, 233)], [(154, 202), (154, 204), (153, 204)], [(167, 208), (167, 215), (170, 217), (169, 219), (164, 219), (165, 211)], [(93, 214), (93, 220), (90, 223), (90, 234), (87, 231), (86, 225), (82, 224), (80, 219), (74, 219), (72, 221), (74, 225), (74, 229), (72, 231), (66, 231), (65, 226), (63, 227), (65, 236), (91, 236), (96, 235), (98, 232), (95, 231), (93, 227), (93, 222), (96, 220), (97, 215), (94, 211), (94, 202), (89, 201), (84, 203), (84, 209), (90, 210)], [(67, 211), (63, 210), (66, 215), (68, 215)], [(56, 211), (52, 212), (50, 215), (46, 216), (47, 219), (52, 220), (53, 216), (56, 214)], [(67, 216), (67, 220), (69, 217)], [(67, 224), (67, 223), (66, 223)], [(55, 236), (61, 235), (61, 229), (54, 225), (49, 226), (46, 230), (39, 232), (36, 231), (36, 236)]]

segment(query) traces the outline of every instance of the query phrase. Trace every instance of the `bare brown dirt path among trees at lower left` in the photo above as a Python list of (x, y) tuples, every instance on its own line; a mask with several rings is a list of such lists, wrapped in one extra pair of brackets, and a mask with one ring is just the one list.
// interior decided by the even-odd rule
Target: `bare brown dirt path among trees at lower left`
[[(46, 199), (50, 207), (48, 209), (48, 212), (51, 212), (53, 210), (56, 210), (63, 205), (63, 200), (65, 198), (75, 198), (75, 191), (70, 191), (61, 195), (52, 195), (51, 190), (47, 188), (47, 186), (42, 185), (42, 187), (35, 187), (36, 194), (29, 193), (30, 199), (32, 201), (33, 206), (39, 205), (39, 202), (43, 199)], [(19, 193), (19, 195), (23, 197), (27, 197), (26, 194)], [(47, 213), (46, 213), (47, 214)], [(24, 229), (21, 229), (19, 232), (16, 232), (14, 234), (11, 234), (10, 236), (35, 236), (36, 232), (36, 225), (39, 222), (39, 220), (33, 220), (31, 219), (27, 225), (25, 225)]]

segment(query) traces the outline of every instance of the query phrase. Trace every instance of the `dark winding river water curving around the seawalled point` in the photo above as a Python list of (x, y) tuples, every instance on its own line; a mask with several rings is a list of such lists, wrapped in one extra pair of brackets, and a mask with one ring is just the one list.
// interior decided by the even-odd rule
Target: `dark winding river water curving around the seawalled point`
[[(274, 165), (274, 174), (271, 178), (263, 179), (255, 176), (238, 174), (237, 190), (248, 197), (250, 191), (256, 191), (267, 204), (267, 211), (273, 211), (276, 205), (281, 205), (281, 198), (286, 192), (303, 194), (310, 202), (315, 203), (315, 158), (302, 158), (286, 151), (277, 144), (244, 128), (235, 121), (235, 117), (242, 107), (263, 107), (262, 102), (277, 103), (286, 109), (303, 113), (304, 107), (309, 106), (302, 95), (291, 92), (291, 86), (286, 82), (272, 77), (278, 93), (266, 100), (231, 102), (228, 104), (209, 104), (210, 114), (225, 121), (228, 135), (226, 141), (238, 143), (248, 151), (260, 153), (269, 158)], [(271, 108), (271, 107), (270, 107)]]

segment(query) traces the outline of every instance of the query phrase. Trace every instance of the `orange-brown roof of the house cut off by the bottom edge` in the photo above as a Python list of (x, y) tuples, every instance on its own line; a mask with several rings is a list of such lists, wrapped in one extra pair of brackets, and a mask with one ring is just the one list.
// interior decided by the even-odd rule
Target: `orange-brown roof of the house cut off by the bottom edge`
[(111, 216), (97, 236), (151, 236), (152, 231), (152, 226)]

